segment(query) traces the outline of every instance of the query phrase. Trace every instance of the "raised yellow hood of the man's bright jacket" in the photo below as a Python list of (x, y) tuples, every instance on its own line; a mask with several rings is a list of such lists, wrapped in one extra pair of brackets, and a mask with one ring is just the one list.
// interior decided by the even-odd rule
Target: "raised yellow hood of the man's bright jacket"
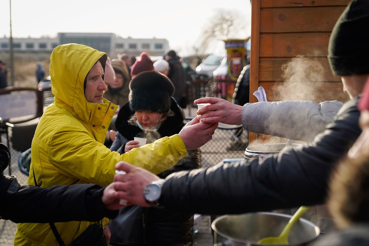
[(87, 102), (84, 81), (98, 60), (105, 70), (107, 54), (82, 44), (59, 45), (50, 57), (51, 90), (55, 103), (66, 105), (66, 110), (85, 122), (89, 121), (96, 103)]

